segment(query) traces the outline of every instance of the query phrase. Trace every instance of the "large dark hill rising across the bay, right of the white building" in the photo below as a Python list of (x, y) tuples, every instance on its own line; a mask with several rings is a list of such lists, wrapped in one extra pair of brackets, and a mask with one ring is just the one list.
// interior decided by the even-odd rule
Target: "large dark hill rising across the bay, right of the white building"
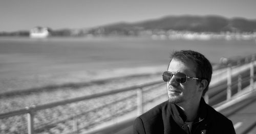
[(141, 30), (174, 30), (190, 32), (256, 32), (256, 20), (227, 19), (221, 16), (167, 16), (136, 23), (114, 23), (92, 29), (92, 34), (136, 34)]

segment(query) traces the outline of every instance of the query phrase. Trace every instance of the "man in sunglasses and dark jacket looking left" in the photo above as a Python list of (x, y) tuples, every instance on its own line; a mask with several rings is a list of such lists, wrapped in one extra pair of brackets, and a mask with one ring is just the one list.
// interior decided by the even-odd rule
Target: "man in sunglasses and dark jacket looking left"
[(134, 133), (236, 133), (232, 122), (205, 103), (212, 67), (199, 52), (175, 51), (168, 70), (168, 101), (137, 117)]

